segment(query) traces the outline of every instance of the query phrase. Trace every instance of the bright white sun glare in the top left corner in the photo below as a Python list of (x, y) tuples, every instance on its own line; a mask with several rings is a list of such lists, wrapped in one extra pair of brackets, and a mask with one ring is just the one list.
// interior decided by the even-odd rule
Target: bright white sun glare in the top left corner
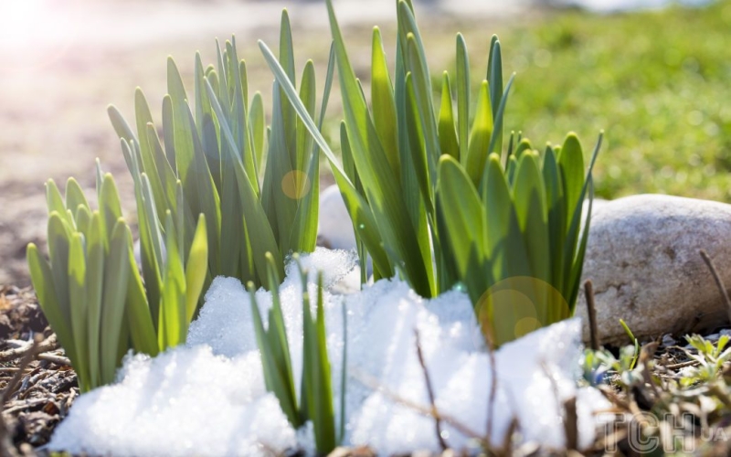
[(10, 69), (60, 57), (73, 38), (74, 0), (0, 0), (0, 57)]

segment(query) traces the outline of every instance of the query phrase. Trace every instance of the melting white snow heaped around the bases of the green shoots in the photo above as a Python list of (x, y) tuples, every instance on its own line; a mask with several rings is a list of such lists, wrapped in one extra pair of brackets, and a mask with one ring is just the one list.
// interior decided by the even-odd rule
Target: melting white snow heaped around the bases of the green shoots
[[(452, 420), (443, 424), (447, 443), (469, 447), (471, 435), (487, 432), (493, 367), (466, 294), (452, 291), (425, 300), (405, 282), (382, 280), (343, 295), (334, 292), (339, 284), (358, 278), (353, 252), (320, 249), (302, 256), (301, 263), (310, 271), (312, 297), (315, 271), (324, 273), (336, 418), (347, 350), (345, 445), (368, 444), (386, 455), (439, 451), (434, 420), (424, 413), (429, 396), (417, 334), (436, 406)], [(296, 269), (293, 262), (288, 265), (280, 293), (299, 386), (302, 291)], [(270, 293), (257, 292), (257, 302), (266, 316)], [(295, 446), (312, 451), (312, 426), (292, 430), (277, 400), (266, 393), (250, 306), (238, 280), (217, 278), (185, 347), (154, 359), (128, 357), (117, 384), (77, 399), (49, 449), (141, 456), (250, 455)], [(592, 413), (608, 405), (595, 389), (577, 388), (580, 330), (577, 319), (564, 321), (495, 352), (493, 441), (502, 441), (515, 418), (525, 441), (563, 446), (561, 405), (574, 396), (579, 444), (593, 440)]]

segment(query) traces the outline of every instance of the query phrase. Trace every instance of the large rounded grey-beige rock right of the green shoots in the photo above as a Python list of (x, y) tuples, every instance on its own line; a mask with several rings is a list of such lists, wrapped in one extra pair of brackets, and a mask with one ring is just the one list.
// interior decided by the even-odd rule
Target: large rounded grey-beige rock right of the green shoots
[(607, 202), (593, 213), (577, 315), (587, 322), (583, 282), (590, 279), (601, 343), (629, 342), (620, 318), (639, 339), (726, 322), (699, 251), (708, 252), (731, 285), (731, 205), (639, 195)]

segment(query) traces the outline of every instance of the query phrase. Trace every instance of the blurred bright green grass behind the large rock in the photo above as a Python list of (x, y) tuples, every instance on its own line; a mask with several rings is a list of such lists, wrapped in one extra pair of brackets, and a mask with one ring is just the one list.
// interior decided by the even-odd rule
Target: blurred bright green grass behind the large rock
[(500, 37), (518, 73), (507, 129), (535, 147), (575, 131), (585, 149), (605, 129), (598, 197), (731, 201), (731, 2), (548, 14)]

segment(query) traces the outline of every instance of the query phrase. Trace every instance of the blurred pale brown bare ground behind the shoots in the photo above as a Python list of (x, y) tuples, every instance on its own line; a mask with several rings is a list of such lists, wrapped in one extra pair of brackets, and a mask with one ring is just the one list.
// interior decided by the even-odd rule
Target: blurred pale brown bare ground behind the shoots
[[(168, 55), (175, 57), (189, 83), (196, 50), (201, 50), (204, 63), (212, 62), (214, 37), (235, 33), (239, 57), (248, 62), (249, 90), (262, 91), (266, 103), (271, 77), (255, 39), (276, 48), (281, 8), (287, 6), (300, 68), (305, 58), (313, 58), (322, 75), (326, 65), (330, 37), (324, 2), (38, 1), (50, 6), (16, 12), (15, 18), (11, 7), (9, 20), (5, 16), (5, 35), (0, 33), (0, 285), (28, 285), (26, 245), (34, 242), (45, 250), (48, 178), (63, 189), (67, 178), (74, 176), (91, 197), (94, 159), (99, 157), (102, 168), (115, 176), (126, 214), (133, 220), (131, 179), (106, 108), (115, 104), (131, 121), (133, 91), (140, 86), (159, 119)], [(487, 7), (470, 17), (432, 9), (433, 5), (423, 5), (418, 13), (422, 28), (429, 30), (426, 39), (445, 48), (448, 61), (452, 47), (444, 40), (439, 43), (443, 35), (435, 32), (449, 31), (453, 37), (461, 29), (467, 31), (468, 41), (469, 35), (477, 35), (473, 42), (487, 42), (482, 37), (486, 21), (514, 15), (521, 5), (523, 0), (503, 5), (500, 14)], [(385, 26), (387, 42), (392, 39), (391, 0), (377, 0), (368, 8), (344, 0), (335, 2), (335, 7), (346, 39), (368, 38), (375, 24)], [(359, 30), (352, 32), (353, 28)], [(355, 58), (356, 71), (366, 69), (368, 40), (350, 39), (349, 45), (362, 58)]]

